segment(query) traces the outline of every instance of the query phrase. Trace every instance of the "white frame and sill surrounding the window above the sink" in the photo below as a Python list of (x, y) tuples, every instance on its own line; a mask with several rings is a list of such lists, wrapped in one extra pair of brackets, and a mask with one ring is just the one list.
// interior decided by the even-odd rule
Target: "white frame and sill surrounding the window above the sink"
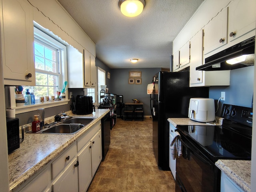
[[(41, 39), (44, 39), (47, 41), (49, 44), (57, 44), (62, 48), (62, 56), (60, 58), (60, 80), (59, 80), (59, 86), (60, 89), (62, 88), (62, 85), (65, 81), (67, 81), (67, 53), (66, 53), (66, 45), (67, 43), (61, 40), (58, 36), (54, 35), (50, 30), (47, 30), (34, 22), (34, 36), (38, 38), (40, 36)], [(51, 40), (49, 40), (49, 37)], [(68, 87), (66, 87), (68, 88)], [(9, 92), (10, 92), (10, 108), (16, 110), (16, 114), (24, 113), (24, 112), (30, 112), (37, 110), (38, 108), (50, 108), (54, 106), (60, 106), (60, 105), (66, 105), (68, 104), (69, 99), (66, 97), (65, 99), (62, 99), (60, 101), (54, 101), (54, 102), (46, 102), (42, 104), (34, 104), (34, 105), (26, 105), (26, 106), (16, 106), (16, 101), (15, 101), (15, 89), (14, 86), (9, 87)]]

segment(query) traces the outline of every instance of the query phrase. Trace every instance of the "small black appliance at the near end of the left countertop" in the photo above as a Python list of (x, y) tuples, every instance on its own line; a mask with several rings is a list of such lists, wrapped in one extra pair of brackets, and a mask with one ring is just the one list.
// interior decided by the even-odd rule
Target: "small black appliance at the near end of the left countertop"
[(20, 148), (20, 130), (18, 118), (6, 118), (8, 154)]

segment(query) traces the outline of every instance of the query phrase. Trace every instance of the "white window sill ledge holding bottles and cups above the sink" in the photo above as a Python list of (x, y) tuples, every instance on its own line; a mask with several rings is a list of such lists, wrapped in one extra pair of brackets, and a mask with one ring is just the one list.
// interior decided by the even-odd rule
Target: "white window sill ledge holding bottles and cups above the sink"
[(12, 109), (15, 109), (15, 114), (30, 112), (38, 110), (39, 108), (50, 108), (50, 107), (56, 107), (60, 105), (66, 105), (68, 104), (70, 100), (60, 100), (60, 101), (54, 101), (54, 102), (47, 102), (43, 104), (34, 104), (34, 105), (26, 105), (26, 106), (15, 106), (12, 107)]

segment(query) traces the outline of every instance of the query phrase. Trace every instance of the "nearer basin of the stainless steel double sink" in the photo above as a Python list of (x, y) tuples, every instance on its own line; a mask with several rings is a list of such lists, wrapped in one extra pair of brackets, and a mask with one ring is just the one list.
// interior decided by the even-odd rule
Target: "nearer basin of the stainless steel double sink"
[[(70, 124), (58, 124), (58, 125), (54, 125), (50, 128), (44, 129), (41, 131), (41, 133), (53, 133), (53, 134), (75, 134), (76, 132), (78, 132), (81, 128), (84, 127), (83, 124), (79, 124), (77, 126), (77, 129), (73, 129), (70, 128)], [(40, 133), (40, 132), (38, 132)]]

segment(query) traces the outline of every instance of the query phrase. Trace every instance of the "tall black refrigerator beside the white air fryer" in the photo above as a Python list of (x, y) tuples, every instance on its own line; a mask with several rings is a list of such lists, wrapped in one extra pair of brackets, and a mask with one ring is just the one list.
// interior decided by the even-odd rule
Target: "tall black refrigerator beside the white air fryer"
[(169, 168), (168, 118), (188, 118), (190, 98), (209, 97), (208, 87), (189, 87), (189, 71), (164, 72), (153, 76), (154, 94), (150, 94), (153, 118), (153, 150), (160, 170)]

